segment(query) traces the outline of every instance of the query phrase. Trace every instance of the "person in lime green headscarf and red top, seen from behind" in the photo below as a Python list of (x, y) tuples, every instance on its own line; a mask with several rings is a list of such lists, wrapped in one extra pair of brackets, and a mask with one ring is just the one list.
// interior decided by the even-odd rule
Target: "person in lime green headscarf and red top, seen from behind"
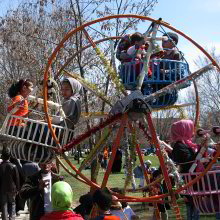
[(59, 181), (52, 186), (52, 209), (40, 220), (83, 220), (81, 215), (72, 211), (73, 191), (71, 186), (64, 181)]

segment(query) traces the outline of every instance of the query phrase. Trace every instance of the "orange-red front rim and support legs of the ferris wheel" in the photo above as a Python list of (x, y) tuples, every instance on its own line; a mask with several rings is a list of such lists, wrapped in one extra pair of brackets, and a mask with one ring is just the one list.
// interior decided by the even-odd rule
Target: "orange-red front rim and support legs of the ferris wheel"
[[(46, 115), (46, 118), (47, 118), (47, 121), (48, 121), (48, 127), (49, 129), (51, 130), (51, 133), (52, 133), (52, 136), (53, 138), (56, 140), (56, 143), (58, 144), (59, 146), (59, 141), (56, 137), (56, 134), (55, 132), (53, 131), (52, 129), (52, 124), (51, 124), (51, 121), (49, 120), (49, 114), (48, 114), (48, 104), (47, 104), (47, 81), (48, 81), (48, 72), (49, 72), (49, 69), (52, 65), (52, 62), (53, 62), (53, 59), (56, 57), (57, 53), (60, 51), (60, 49), (64, 46), (64, 43), (71, 37), (73, 36), (76, 32), (80, 31), (80, 30), (84, 30), (85, 31), (85, 27), (88, 27), (92, 24), (95, 24), (95, 23), (98, 23), (98, 22), (102, 22), (102, 21), (105, 21), (105, 20), (110, 20), (110, 19), (115, 19), (115, 18), (138, 18), (138, 19), (141, 19), (141, 20), (148, 20), (148, 21), (151, 21), (151, 22), (156, 22), (156, 23), (159, 23), (160, 25), (162, 26), (165, 26), (167, 27), (168, 29), (170, 30), (173, 30), (175, 31), (176, 33), (178, 33), (179, 35), (183, 36), (184, 38), (186, 38), (187, 40), (189, 40), (192, 44), (194, 44), (199, 50), (201, 50), (207, 57), (209, 60), (211, 60), (212, 64), (214, 66), (216, 66), (219, 70), (220, 70), (220, 67), (218, 66), (218, 64), (216, 63), (216, 61), (211, 57), (211, 55), (209, 55), (206, 50), (203, 49), (203, 47), (201, 47), (198, 43), (196, 43), (194, 40), (192, 40), (190, 37), (188, 37), (187, 35), (185, 35), (183, 32), (179, 31), (178, 29), (172, 27), (171, 25), (163, 22), (163, 21), (159, 21), (159, 20), (155, 20), (155, 19), (152, 19), (150, 17), (146, 17), (146, 16), (139, 16), (139, 15), (131, 15), (131, 14), (125, 14), (125, 15), (113, 15), (113, 16), (108, 16), (108, 17), (104, 17), (104, 18), (100, 18), (100, 19), (97, 19), (97, 20), (93, 20), (93, 21), (90, 21), (88, 23), (85, 23), (83, 24), (82, 26), (74, 29), (74, 30), (71, 30), (67, 33), (67, 35), (62, 39), (62, 41), (59, 43), (59, 45), (55, 48), (55, 50), (53, 51), (52, 55), (50, 56), (50, 58), (48, 59), (48, 64), (46, 66), (46, 69), (45, 69), (45, 72), (44, 72), (44, 112), (45, 112), (45, 115)], [(91, 42), (92, 45), (94, 46), (94, 42)], [(212, 162), (208, 165), (208, 167), (205, 169), (204, 173), (200, 174), (200, 176), (198, 176), (197, 178), (195, 178), (193, 181), (191, 181), (190, 183), (186, 184), (184, 187), (180, 187), (179, 189), (177, 189), (175, 192), (172, 191), (172, 186), (171, 186), (171, 183), (170, 183), (170, 180), (169, 180), (169, 177), (168, 177), (168, 173), (167, 173), (167, 170), (165, 169), (165, 166), (164, 166), (164, 160), (163, 160), (163, 157), (161, 155), (161, 152), (160, 152), (160, 149), (159, 149), (159, 143), (157, 141), (157, 138), (156, 138), (156, 131), (155, 131), (155, 128), (153, 127), (153, 123), (152, 123), (152, 119), (151, 119), (151, 115), (149, 114), (148, 115), (148, 123), (149, 123), (149, 127), (150, 127), (150, 130), (152, 132), (152, 138), (153, 138), (153, 142), (155, 143), (156, 145), (156, 153), (159, 157), (159, 160), (160, 160), (160, 164), (161, 164), (161, 168), (162, 168), (162, 171), (163, 171), (163, 174), (164, 174), (164, 178), (166, 180), (166, 183), (168, 185), (168, 190), (170, 192), (170, 194), (164, 194), (164, 195), (160, 195), (160, 196), (152, 196), (152, 197), (148, 197), (148, 198), (135, 198), (135, 197), (129, 197), (130, 200), (132, 201), (144, 201), (144, 202), (150, 202), (150, 201), (155, 201), (155, 200), (159, 200), (161, 198), (164, 198), (168, 195), (171, 195), (172, 197), (172, 203), (173, 203), (173, 207), (176, 211), (176, 216), (177, 216), (177, 219), (180, 219), (180, 215), (179, 215), (179, 208), (177, 207), (177, 203), (176, 203), (176, 199), (175, 199), (175, 194), (176, 193), (179, 193), (180, 191), (184, 190), (185, 188), (191, 186), (192, 184), (194, 184), (196, 181), (198, 181), (202, 176), (204, 176), (207, 171), (211, 168), (212, 164), (215, 162), (216, 158), (220, 155), (220, 152), (217, 152), (217, 154), (215, 155), (214, 159), (212, 160)], [(124, 123), (124, 120), (122, 120), (121, 122), (122, 124)], [(123, 127), (121, 124), (121, 127)], [(118, 142), (119, 142), (119, 139), (120, 139), (120, 136), (121, 136), (121, 129), (120, 128), (120, 132), (118, 133), (118, 136), (116, 138), (116, 142), (115, 142), (115, 146), (114, 146), (114, 153), (113, 153), (113, 157), (114, 157), (114, 154), (115, 154), (115, 151), (116, 151), (116, 148), (117, 148), (117, 145), (118, 145)], [(81, 139), (82, 140), (82, 139)], [(64, 149), (67, 149), (68, 147), (70, 147), (70, 145), (68, 146), (65, 146)], [(72, 146), (71, 146), (72, 147)], [(67, 161), (68, 162), (68, 161)], [(77, 171), (77, 169), (70, 163), (68, 162), (69, 166), (77, 173), (77, 175), (79, 175), (80, 177), (82, 177), (87, 183), (91, 184), (91, 186), (93, 187), (99, 187), (98, 185), (92, 183), (90, 180), (86, 179), (80, 172)], [(111, 163), (110, 163), (110, 166), (111, 166)], [(110, 167), (109, 166), (109, 167)], [(103, 183), (102, 183), (102, 187), (106, 185), (107, 183), (107, 180), (108, 180), (108, 175), (109, 175), (109, 171), (110, 171), (110, 168), (108, 168), (108, 171), (107, 171), (107, 174), (105, 175), (104, 177), (104, 180), (103, 180)], [(128, 197), (124, 197), (126, 199), (128, 199)], [(128, 200), (127, 200), (128, 201)]]

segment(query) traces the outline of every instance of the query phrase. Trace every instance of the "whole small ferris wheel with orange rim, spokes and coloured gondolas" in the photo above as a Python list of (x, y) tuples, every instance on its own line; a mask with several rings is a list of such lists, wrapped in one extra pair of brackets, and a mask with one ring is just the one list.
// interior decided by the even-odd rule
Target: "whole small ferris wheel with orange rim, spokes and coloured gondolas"
[[(95, 29), (97, 23), (102, 23), (111, 19), (124, 18), (138, 18), (143, 21), (150, 22), (148, 30), (144, 33), (145, 39), (148, 41), (148, 48), (146, 49), (140, 62), (140, 66), (138, 67), (138, 74), (136, 61), (134, 59), (121, 63), (120, 70), (118, 71), (119, 74), (117, 74), (116, 65), (114, 65), (113, 59), (114, 48), (112, 49), (111, 56), (108, 57), (105, 55), (103, 47), (100, 46), (102, 43), (120, 40), (122, 37), (117, 36), (102, 38), (101, 35), (93, 37), (89, 32), (89, 28), (92, 27)], [(158, 52), (156, 42), (164, 39), (167, 40), (167, 38), (169, 39), (169, 35), (162, 37), (157, 36), (157, 33), (159, 33), (160, 29), (163, 31), (162, 33), (166, 34), (163, 27), (170, 29), (171, 31), (174, 31), (180, 36), (186, 38), (194, 46), (201, 50), (211, 63), (194, 73), (190, 73), (188, 63), (184, 59), (178, 61), (163, 59), (162, 57), (150, 59), (152, 54)], [(84, 36), (87, 45), (83, 46), (80, 48), (80, 50), (78, 50), (78, 52), (69, 57), (69, 59), (65, 61), (56, 74), (51, 77), (49, 70), (56, 62), (56, 58), (61, 56), (61, 53), (63, 53), (65, 50), (65, 46), (79, 33)], [(115, 96), (108, 97), (108, 95), (103, 94), (103, 91), (100, 89), (101, 86), (95, 85), (92, 77), (86, 78), (85, 72), (82, 74), (82, 71), (84, 70), (82, 70), (81, 66), (76, 68), (74, 73), (69, 70), (71, 68), (68, 67), (73, 64), (79, 53), (83, 53), (85, 51), (88, 51), (87, 59), (89, 59), (90, 53), (95, 53), (96, 59), (102, 63), (102, 65), (98, 66), (98, 68), (101, 68), (101, 72), (103, 72), (103, 74), (106, 72), (108, 73), (107, 77), (109, 77), (112, 89), (115, 89)], [(111, 62), (109, 62), (109, 60), (111, 60)], [(178, 98), (178, 91), (180, 89), (187, 88), (191, 82), (193, 82), (197, 96), (197, 114), (195, 118), (195, 124), (197, 124), (199, 120), (199, 100), (195, 80), (214, 67), (220, 70), (220, 67), (215, 60), (213, 60), (213, 58), (199, 44), (197, 44), (180, 30), (172, 27), (166, 22), (163, 22), (161, 19), (155, 20), (150, 17), (138, 15), (115, 15), (93, 20), (76, 29), (70, 30), (59, 43), (59, 45), (54, 49), (51, 57), (48, 59), (44, 73), (44, 97), (43, 99), (37, 98), (36, 96), (32, 97), (32, 101), (34, 100), (35, 102), (44, 105), (44, 111), (41, 113), (42, 115), (45, 115), (47, 121), (39, 122), (38, 120), (30, 118), (21, 118), (13, 115), (13, 112), (11, 112), (7, 115), (4, 121), (4, 124), (1, 128), (1, 135), (10, 140), (12, 154), (14, 157), (19, 159), (35, 162), (47, 162), (55, 158), (57, 155), (62, 155), (68, 166), (72, 169), (73, 173), (70, 173), (64, 163), (59, 160), (61, 166), (63, 166), (63, 168), (70, 173), (70, 175), (72, 175), (78, 181), (81, 181), (82, 184), (89, 185), (93, 188), (103, 188), (105, 186), (111, 187), (108, 185), (108, 180), (113, 175), (111, 171), (117, 149), (120, 147), (120, 142), (122, 140), (125, 141), (126, 146), (128, 146), (128, 142), (130, 141), (129, 147), (125, 147), (124, 149), (126, 159), (128, 159), (128, 175), (123, 184), (125, 194), (115, 193), (119, 199), (131, 202), (153, 202), (155, 205), (157, 202), (161, 202), (163, 198), (169, 196), (171, 198), (173, 212), (175, 213), (176, 218), (181, 219), (180, 210), (175, 195), (183, 193), (193, 197), (195, 205), (200, 209), (201, 212), (219, 212), (220, 190), (218, 189), (217, 176), (219, 175), (220, 171), (209, 170), (212, 165), (215, 164), (220, 152), (215, 154), (204, 172), (194, 173), (193, 171), (192, 173), (184, 174), (184, 182), (181, 178), (181, 175), (178, 173), (177, 167), (168, 157), (164, 145), (158, 140), (152, 120), (152, 112), (154, 110), (169, 108), (180, 109), (181, 107), (186, 106), (187, 104), (175, 105), (175, 102)], [(165, 74), (161, 76), (162, 69), (165, 71)], [(148, 74), (149, 70), (151, 70), (150, 75)], [(81, 77), (77, 71), (81, 71), (81, 76), (84, 75), (84, 78)], [(88, 71), (94, 71), (92, 69), (92, 65), (89, 65)], [(62, 76), (68, 76), (78, 80), (83, 85), (85, 90), (90, 94), (91, 108), (93, 111), (82, 114), (81, 121), (75, 125), (74, 130), (68, 129), (67, 127), (54, 125), (50, 120), (51, 113), (49, 112), (49, 109), (55, 109), (56, 112), (60, 113), (61, 117), (65, 118), (65, 115), (62, 112), (62, 105), (59, 97), (59, 80), (62, 78)], [(97, 74), (96, 76), (94, 74), (94, 77), (99, 77), (98, 79), (100, 82), (102, 81), (102, 77), (100, 75)], [(53, 101), (48, 100), (49, 83), (53, 83), (53, 90), (55, 91), (55, 98)], [(37, 89), (35, 89), (35, 92), (36, 91)], [(105, 105), (107, 105), (109, 113), (97, 113), (97, 106), (95, 102), (99, 99), (102, 100)], [(26, 126), (29, 126), (30, 132), (25, 133), (24, 131), (21, 131), (21, 129), (16, 130), (15, 128), (11, 128), (12, 126), (10, 126), (10, 122), (12, 119), (16, 120), (18, 118), (22, 119)], [(94, 125), (91, 126), (86, 124), (87, 121), (89, 119), (91, 120), (92, 118), (95, 118)], [(101, 122), (99, 122), (97, 118), (102, 118)], [(36, 134), (39, 128), (41, 128), (41, 132), (37, 136)], [(94, 136), (97, 132), (100, 132), (99, 139), (95, 141), (95, 146), (77, 169), (65, 155), (65, 152), (71, 149), (76, 149), (79, 144), (84, 143), (88, 138)], [(157, 195), (149, 193), (149, 196), (144, 198), (126, 194), (126, 192), (132, 191), (129, 186), (131, 183), (132, 169), (134, 168), (132, 167), (132, 159), (129, 158), (132, 158), (137, 154), (140, 164), (144, 169), (144, 160), (141, 154), (139, 141), (139, 139), (143, 136), (146, 138), (146, 141), (151, 142), (156, 147), (156, 155), (160, 161), (163, 178), (166, 181), (168, 188), (167, 194)], [(104, 173), (103, 180), (99, 185), (89, 180), (89, 178), (83, 174), (83, 170), (86, 166), (89, 166), (92, 163), (92, 161), (101, 151), (103, 151), (103, 148), (105, 144), (108, 143), (109, 139), (112, 140), (111, 158)], [(202, 157), (203, 153), (200, 155)], [(172, 188), (169, 173), (174, 174), (175, 180), (178, 183), (178, 187), (175, 190)], [(96, 175), (98, 175), (98, 170)], [(147, 171), (144, 172), (144, 176), (147, 186), (140, 188), (139, 191), (144, 191), (147, 188), (149, 189), (149, 187), (153, 187), (154, 184), (161, 180), (157, 179), (150, 183)], [(214, 185), (207, 185), (205, 183), (206, 179), (208, 179), (209, 183), (210, 181), (214, 181)], [(199, 190), (195, 191), (192, 185), (195, 183), (199, 184), (199, 181), (202, 182), (202, 184)], [(204, 198), (206, 198), (206, 200)], [(207, 205), (207, 201), (209, 201), (209, 204), (211, 204), (209, 207)], [(215, 205), (216, 202), (218, 205)]]

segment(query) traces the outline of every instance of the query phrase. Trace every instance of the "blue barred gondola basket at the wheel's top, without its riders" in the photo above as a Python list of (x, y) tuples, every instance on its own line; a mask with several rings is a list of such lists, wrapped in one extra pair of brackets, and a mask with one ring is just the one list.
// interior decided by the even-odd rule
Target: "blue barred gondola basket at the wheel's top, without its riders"
[[(143, 62), (137, 65), (136, 61), (125, 62), (120, 65), (120, 78), (127, 90), (136, 89), (137, 76), (143, 68)], [(149, 63), (152, 74), (146, 74), (142, 85), (142, 93), (150, 95), (166, 87), (173, 82), (181, 80), (189, 75), (189, 66), (186, 62), (166, 59), (154, 59)], [(182, 88), (190, 84), (183, 85)], [(162, 108), (173, 105), (178, 98), (178, 92), (172, 90), (170, 93), (162, 95), (148, 104), (152, 108)]]

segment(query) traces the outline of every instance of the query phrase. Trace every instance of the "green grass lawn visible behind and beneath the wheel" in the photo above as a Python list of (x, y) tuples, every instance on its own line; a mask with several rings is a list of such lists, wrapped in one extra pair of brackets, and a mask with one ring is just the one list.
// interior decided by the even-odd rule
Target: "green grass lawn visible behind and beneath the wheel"
[[(74, 160), (73, 158), (69, 158), (69, 159), (72, 162), (72, 164), (74, 164), (76, 166), (76, 168), (79, 168), (80, 165), (77, 164), (76, 160)], [(158, 161), (156, 156), (145, 156), (144, 160), (151, 160), (152, 166), (154, 166), (154, 167), (159, 166), (159, 161)], [(138, 164), (139, 164), (139, 161), (136, 162), (136, 165), (138, 165)], [(90, 169), (83, 170), (82, 173), (83, 173), (83, 175), (85, 175), (87, 178), (90, 179), (90, 175), (91, 175), (90, 174)], [(71, 185), (71, 187), (73, 189), (73, 192), (74, 192), (74, 201), (75, 201), (74, 204), (78, 204), (80, 196), (87, 193), (87, 192), (89, 192), (90, 188), (87, 185), (81, 183), (80, 181), (77, 181), (75, 178), (73, 178), (68, 173), (66, 173), (66, 171), (64, 171), (62, 168), (61, 168), (61, 175), (63, 175), (64, 180)], [(124, 169), (121, 169), (120, 173), (111, 174), (109, 176), (107, 186), (111, 187), (111, 188), (112, 187), (123, 188), (123, 186), (124, 186), (124, 177), (125, 177)], [(98, 184), (102, 183), (103, 178), (104, 178), (104, 171), (100, 171), (99, 176), (98, 176), (98, 180), (97, 180)], [(136, 179), (136, 185), (137, 186), (139, 185), (139, 179)], [(135, 197), (142, 197), (142, 193), (130, 193), (130, 194), (127, 194), (127, 195), (131, 195), (131, 196), (135, 196)], [(178, 203), (179, 203), (179, 206), (180, 206), (180, 209), (181, 209), (181, 214), (184, 217), (184, 219), (186, 219), (186, 206), (185, 206), (183, 200), (179, 199)], [(153, 208), (149, 207), (148, 204), (144, 205), (142, 203), (133, 203), (133, 204), (130, 204), (130, 205), (132, 206), (133, 210), (138, 215), (140, 215), (141, 219), (150, 219), (151, 218), (152, 213), (153, 213)], [(168, 212), (169, 212), (169, 219), (176, 219), (175, 215), (172, 213), (171, 210), (169, 210)], [(205, 219), (212, 220), (212, 219), (215, 219), (215, 216), (201, 214), (200, 219), (202, 219), (202, 220), (205, 220)]]

